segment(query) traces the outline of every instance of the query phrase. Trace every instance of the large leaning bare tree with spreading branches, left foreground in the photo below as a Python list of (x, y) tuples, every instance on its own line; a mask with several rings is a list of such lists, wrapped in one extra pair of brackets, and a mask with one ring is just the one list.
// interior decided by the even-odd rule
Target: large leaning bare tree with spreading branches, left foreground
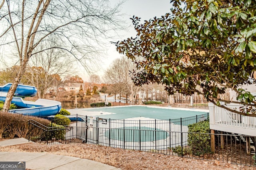
[[(110, 38), (110, 31), (121, 29), (118, 9), (108, 0), (6, 0), (0, 6), (0, 47), (16, 51), (18, 74), (6, 96), (8, 109), (28, 61), (36, 54), (52, 48), (68, 51), (86, 70), (94, 59), (99, 44)], [(37, 48), (50, 36), (58, 37), (58, 45)], [(61, 46), (59, 46), (61, 45)]]

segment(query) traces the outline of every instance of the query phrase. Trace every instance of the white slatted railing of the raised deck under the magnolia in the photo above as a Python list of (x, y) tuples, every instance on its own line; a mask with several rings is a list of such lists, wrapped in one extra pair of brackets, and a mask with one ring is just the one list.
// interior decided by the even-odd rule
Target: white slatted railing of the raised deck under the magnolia
[[(239, 108), (242, 107), (242, 105), (226, 104), (226, 107), (239, 111)], [(239, 132), (244, 132), (242, 133), (244, 135), (249, 135), (252, 131), (254, 131), (254, 135), (256, 135), (256, 117), (243, 116), (215, 106), (212, 103), (209, 103), (209, 116), (211, 129), (236, 133), (239, 128)], [(246, 133), (246, 131), (250, 131), (250, 133)]]

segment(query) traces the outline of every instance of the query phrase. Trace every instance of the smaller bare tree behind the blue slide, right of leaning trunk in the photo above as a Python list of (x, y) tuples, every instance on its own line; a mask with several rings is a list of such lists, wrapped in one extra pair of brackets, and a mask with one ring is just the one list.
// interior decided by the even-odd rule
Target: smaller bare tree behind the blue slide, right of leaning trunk
[[(50, 43), (56, 43), (57, 41), (56, 39), (52, 39)], [(68, 57), (66, 51), (58, 48), (50, 48), (52, 46), (51, 44), (43, 42), (38, 46), (41, 50), (47, 46), (49, 46), (49, 49), (35, 54), (28, 63), (30, 65), (30, 67), (27, 67), (28, 74), (24, 74), (27, 80), (38, 88), (38, 98), (46, 98), (47, 90), (56, 84), (56, 76), (54, 75), (63, 76), (71, 73), (70, 68), (72, 67), (73, 61)], [(43, 76), (39, 76), (38, 72), (35, 72), (32, 66), (41, 67), (43, 70), (41, 74)]]

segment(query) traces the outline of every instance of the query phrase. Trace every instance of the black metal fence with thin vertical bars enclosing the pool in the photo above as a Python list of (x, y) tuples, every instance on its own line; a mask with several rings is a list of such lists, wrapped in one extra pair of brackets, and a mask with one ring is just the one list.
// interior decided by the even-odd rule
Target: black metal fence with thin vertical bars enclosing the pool
[[(189, 133), (187, 125), (208, 119), (208, 114), (169, 120), (115, 120), (72, 115), (68, 126), (44, 127), (30, 120), (29, 140), (48, 144), (88, 143), (143, 150), (188, 158), (255, 166), (255, 152), (247, 153), (246, 140), (255, 151), (256, 137), (236, 134)], [(214, 146), (211, 142), (214, 141)], [(253, 150), (254, 149), (254, 150)]]

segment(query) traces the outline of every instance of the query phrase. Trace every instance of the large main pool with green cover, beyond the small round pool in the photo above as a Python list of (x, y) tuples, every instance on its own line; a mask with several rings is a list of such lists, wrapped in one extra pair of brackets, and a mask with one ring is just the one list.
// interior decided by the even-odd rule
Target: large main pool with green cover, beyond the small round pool
[[(96, 116), (106, 119), (128, 119), (132, 117), (148, 117), (151, 119), (179, 119), (191, 117), (195, 115), (202, 115), (208, 113), (208, 110), (198, 109), (182, 109), (173, 107), (147, 107), (147, 106), (126, 106), (126, 107), (100, 107), (93, 109), (86, 109), (86, 111), (98, 112)], [(103, 114), (100, 114), (102, 112)], [(113, 114), (104, 114), (104, 112)]]

